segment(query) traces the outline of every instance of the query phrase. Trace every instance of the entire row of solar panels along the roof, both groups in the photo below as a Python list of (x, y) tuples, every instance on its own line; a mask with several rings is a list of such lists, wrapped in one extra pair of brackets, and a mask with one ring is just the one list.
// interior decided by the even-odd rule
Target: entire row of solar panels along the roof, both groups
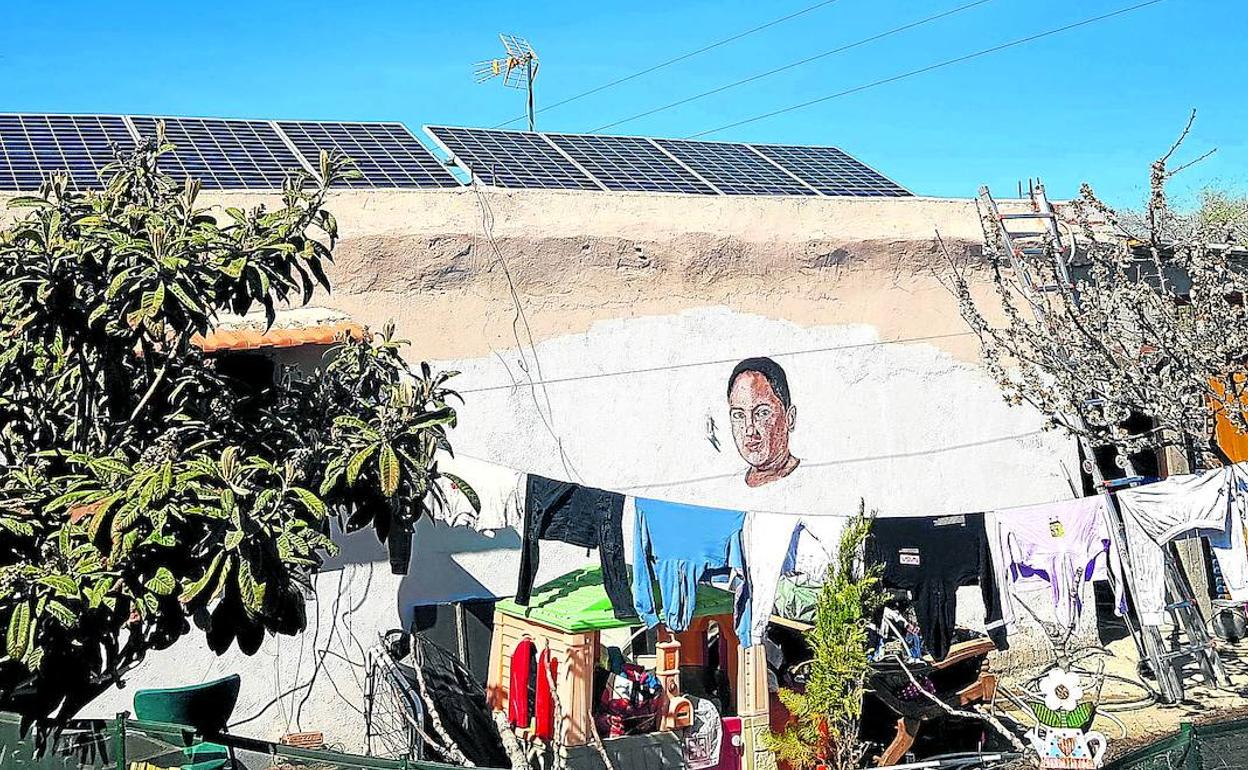
[[(461, 180), (397, 122), (265, 121), (125, 115), (0, 115), (0, 190), (37, 190), (69, 173), (97, 187), (117, 152), (155, 139), (160, 167), (210, 190), (277, 190), (318, 177), (322, 150), (353, 161), (352, 188), (459, 187)], [(485, 185), (685, 195), (897, 197), (910, 192), (836, 147), (426, 126), (463, 172)]]

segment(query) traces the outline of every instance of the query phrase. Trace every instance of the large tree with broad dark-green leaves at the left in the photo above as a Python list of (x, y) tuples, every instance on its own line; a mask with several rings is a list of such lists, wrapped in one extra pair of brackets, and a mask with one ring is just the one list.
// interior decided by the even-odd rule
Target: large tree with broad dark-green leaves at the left
[(444, 502), (452, 374), (411, 368), (393, 328), (258, 384), (196, 344), (218, 313), (272, 322), (329, 288), (346, 161), (220, 211), (161, 173), (170, 149), (99, 191), (54, 177), (0, 230), (0, 709), (32, 719), (72, 716), (192, 623), (217, 653), (298, 633), (331, 517), (403, 543)]

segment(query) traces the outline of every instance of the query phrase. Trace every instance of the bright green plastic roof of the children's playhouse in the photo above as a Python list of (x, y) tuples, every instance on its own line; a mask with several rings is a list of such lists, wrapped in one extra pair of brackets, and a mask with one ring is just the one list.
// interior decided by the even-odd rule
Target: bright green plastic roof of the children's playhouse
[[(658, 584), (654, 597), (659, 599)], [(602, 631), (638, 625), (635, 616), (620, 620), (612, 610), (612, 600), (603, 588), (600, 567), (585, 567), (533, 589), (528, 607), (513, 599), (499, 602), (495, 609), (514, 618), (524, 618), (569, 634)], [(694, 618), (733, 614), (733, 594), (713, 585), (699, 585)]]

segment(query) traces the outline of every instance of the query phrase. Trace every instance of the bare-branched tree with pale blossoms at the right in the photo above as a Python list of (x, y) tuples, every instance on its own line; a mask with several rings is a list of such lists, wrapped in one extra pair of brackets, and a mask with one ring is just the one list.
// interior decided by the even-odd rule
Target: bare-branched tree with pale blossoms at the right
[[(1116, 212), (1085, 183), (1060, 237), (1011, 255), (981, 210), (986, 258), (951, 257), (950, 286), (1008, 402), (1119, 457), (1177, 449), (1209, 464), (1228, 461), (1217, 416), (1248, 431), (1248, 200), (1171, 206), (1166, 185), (1191, 165), (1171, 160), (1191, 126), (1153, 162), (1142, 215)], [(985, 273), (990, 298), (972, 292)]]

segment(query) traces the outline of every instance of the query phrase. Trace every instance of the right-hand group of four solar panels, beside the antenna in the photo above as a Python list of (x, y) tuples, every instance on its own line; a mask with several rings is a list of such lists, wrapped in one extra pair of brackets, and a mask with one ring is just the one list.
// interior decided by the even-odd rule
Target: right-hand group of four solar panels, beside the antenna
[[(836, 147), (426, 126), (469, 175), (499, 187), (694, 195), (907, 196)], [(544, 142), (544, 144), (543, 144)]]

